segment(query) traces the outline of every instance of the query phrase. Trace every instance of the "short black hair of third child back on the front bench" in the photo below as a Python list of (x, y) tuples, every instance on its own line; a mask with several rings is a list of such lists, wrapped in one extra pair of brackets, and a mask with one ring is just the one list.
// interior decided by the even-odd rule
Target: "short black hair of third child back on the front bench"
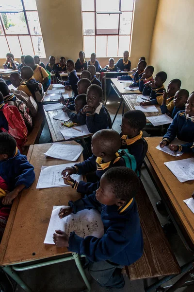
[(146, 127), (146, 115), (141, 110), (126, 111), (123, 116), (128, 119), (128, 124), (131, 128), (135, 128), (140, 131)]

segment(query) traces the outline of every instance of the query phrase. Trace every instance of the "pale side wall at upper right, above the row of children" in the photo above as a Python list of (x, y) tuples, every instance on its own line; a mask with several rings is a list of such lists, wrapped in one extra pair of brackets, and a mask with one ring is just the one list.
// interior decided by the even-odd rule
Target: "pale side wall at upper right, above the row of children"
[(165, 85), (174, 78), (194, 91), (194, 0), (160, 0), (150, 52), (155, 73), (165, 71)]

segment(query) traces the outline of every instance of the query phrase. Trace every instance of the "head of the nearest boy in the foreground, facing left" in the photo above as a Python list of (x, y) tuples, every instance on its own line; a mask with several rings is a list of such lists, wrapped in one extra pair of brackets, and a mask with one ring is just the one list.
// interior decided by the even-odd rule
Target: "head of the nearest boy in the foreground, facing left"
[(112, 167), (102, 175), (96, 198), (101, 204), (121, 207), (135, 197), (139, 189), (139, 178), (132, 169)]

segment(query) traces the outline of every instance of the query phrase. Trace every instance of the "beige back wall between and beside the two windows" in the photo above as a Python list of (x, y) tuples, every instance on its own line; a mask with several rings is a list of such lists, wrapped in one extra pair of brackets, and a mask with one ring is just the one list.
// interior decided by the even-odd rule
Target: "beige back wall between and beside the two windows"
[[(83, 50), (81, 0), (36, 0), (36, 3), (47, 55), (41, 60), (46, 63), (49, 55), (54, 55), (58, 61), (64, 55), (76, 61)], [(158, 0), (136, 0), (130, 52), (132, 67), (136, 67), (140, 56), (149, 58), (157, 6)], [(104, 67), (108, 59), (98, 58), (98, 61)], [(0, 67), (4, 61), (0, 59)]]

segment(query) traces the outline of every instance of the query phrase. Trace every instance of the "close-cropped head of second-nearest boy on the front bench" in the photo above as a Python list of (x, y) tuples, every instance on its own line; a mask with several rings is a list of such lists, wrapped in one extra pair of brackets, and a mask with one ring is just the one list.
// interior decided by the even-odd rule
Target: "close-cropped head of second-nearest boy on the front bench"
[[(114, 130), (103, 129), (97, 131), (92, 136), (92, 153), (106, 160), (115, 156), (115, 153), (121, 147), (121, 138), (118, 132)], [(108, 160), (109, 161), (109, 160)]]

